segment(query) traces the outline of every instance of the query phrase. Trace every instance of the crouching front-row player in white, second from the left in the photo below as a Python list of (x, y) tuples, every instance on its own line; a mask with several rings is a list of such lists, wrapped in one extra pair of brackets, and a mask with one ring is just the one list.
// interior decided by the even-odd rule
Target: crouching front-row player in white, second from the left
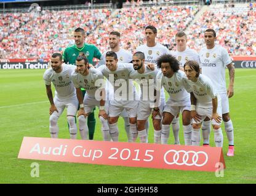
[[(89, 69), (89, 61), (84, 54), (76, 58), (76, 71), (71, 75), (76, 88), (76, 96), (80, 104), (78, 111), (79, 131), (87, 137), (89, 129), (87, 126), (87, 116), (94, 110), (95, 106), (99, 108), (98, 117), (102, 124), (102, 134), (104, 141), (110, 141), (110, 128), (108, 126), (108, 115), (105, 108), (105, 80), (102, 73), (94, 68)], [(86, 89), (84, 100), (82, 100), (82, 91)]]

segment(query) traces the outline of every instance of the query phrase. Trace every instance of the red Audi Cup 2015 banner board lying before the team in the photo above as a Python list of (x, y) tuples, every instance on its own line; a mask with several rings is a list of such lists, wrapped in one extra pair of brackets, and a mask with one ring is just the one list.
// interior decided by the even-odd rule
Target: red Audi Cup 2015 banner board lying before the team
[(127, 167), (216, 171), (222, 148), (24, 137), (19, 159)]

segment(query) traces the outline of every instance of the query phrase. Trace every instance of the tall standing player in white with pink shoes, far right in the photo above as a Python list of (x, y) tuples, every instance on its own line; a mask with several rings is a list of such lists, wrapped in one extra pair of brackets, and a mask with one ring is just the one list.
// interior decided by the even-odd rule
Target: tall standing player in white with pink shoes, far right
[[(204, 32), (204, 41), (206, 47), (199, 52), (202, 74), (212, 80), (222, 99), (222, 119), (225, 124), (226, 136), (228, 137), (228, 156), (234, 156), (234, 131), (233, 123), (230, 119), (230, 108), (228, 98), (234, 94), (234, 66), (232, 59), (225, 48), (215, 45), (216, 32), (214, 29), (206, 29)], [(230, 84), (226, 89), (225, 68), (228, 67), (230, 75)], [(209, 126), (207, 126), (209, 129)], [(209, 137), (208, 137), (209, 138)]]

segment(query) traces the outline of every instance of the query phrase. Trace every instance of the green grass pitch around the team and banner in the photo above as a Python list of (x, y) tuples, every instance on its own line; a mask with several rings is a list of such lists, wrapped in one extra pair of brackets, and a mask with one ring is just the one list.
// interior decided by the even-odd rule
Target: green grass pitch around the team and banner
[[(44, 70), (0, 70), (0, 183), (256, 183), (256, 69), (236, 69), (234, 97), (230, 99), (235, 156), (226, 156), (228, 141), (222, 126), (226, 170), (224, 177), (218, 178), (214, 172), (18, 159), (24, 136), (50, 137), (49, 101), (43, 73)], [(228, 78), (228, 72), (226, 75)], [(65, 115), (58, 123), (60, 138), (69, 138)], [(120, 140), (126, 141), (122, 119), (119, 129)], [(214, 146), (213, 138), (211, 132), (211, 146)], [(98, 119), (95, 140), (102, 140)], [(149, 141), (153, 143), (152, 126)], [(182, 130), (180, 141), (184, 143)], [(174, 143), (172, 134), (169, 143)], [(33, 162), (40, 165), (39, 178), (30, 176)]]

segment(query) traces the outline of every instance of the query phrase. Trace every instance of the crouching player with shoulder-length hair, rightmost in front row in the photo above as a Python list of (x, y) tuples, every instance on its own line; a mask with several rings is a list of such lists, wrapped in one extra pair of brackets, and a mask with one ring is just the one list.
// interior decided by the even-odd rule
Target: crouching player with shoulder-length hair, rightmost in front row
[(212, 81), (200, 74), (199, 64), (196, 61), (187, 61), (184, 64), (186, 77), (191, 93), (191, 117), (193, 123), (192, 145), (200, 145), (200, 129), (205, 118), (212, 119), (214, 140), (217, 147), (223, 145), (223, 134), (220, 127), (222, 123), (222, 108), (220, 97), (212, 85)]

